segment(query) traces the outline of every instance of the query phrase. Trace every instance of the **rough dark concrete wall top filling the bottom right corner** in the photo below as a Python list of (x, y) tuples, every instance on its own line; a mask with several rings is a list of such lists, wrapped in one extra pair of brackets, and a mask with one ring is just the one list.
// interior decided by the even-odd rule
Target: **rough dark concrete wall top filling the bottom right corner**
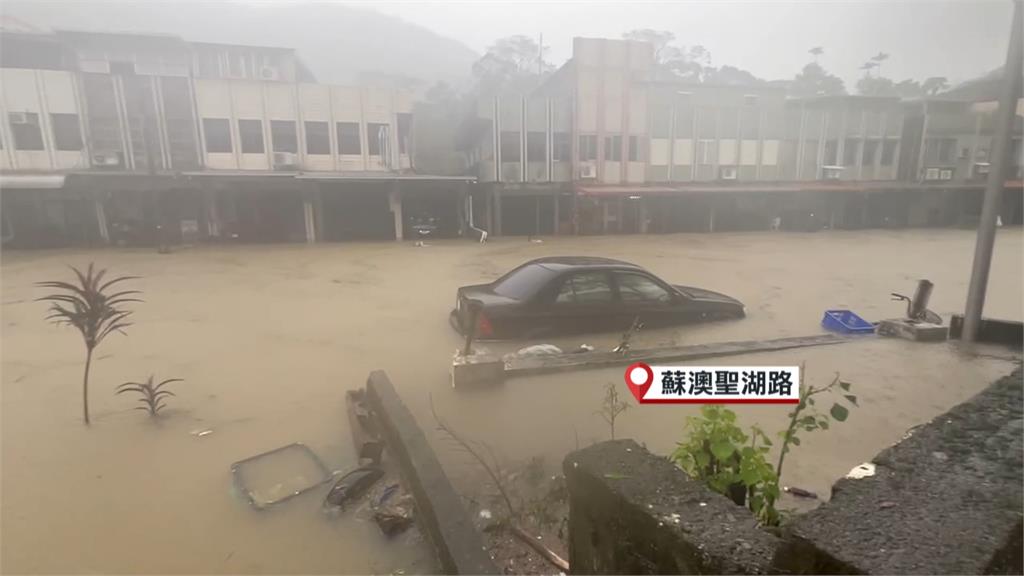
[(792, 574), (1021, 574), (1022, 374), (996, 381), (881, 452), (795, 520)]

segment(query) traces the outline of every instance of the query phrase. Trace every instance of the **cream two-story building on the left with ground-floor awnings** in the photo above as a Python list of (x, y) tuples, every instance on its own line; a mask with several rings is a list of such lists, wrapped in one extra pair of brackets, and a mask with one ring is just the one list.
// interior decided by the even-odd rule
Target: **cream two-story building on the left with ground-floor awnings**
[(401, 238), (472, 177), (416, 173), (413, 97), (319, 84), (294, 50), (0, 32), (0, 186), (13, 245)]

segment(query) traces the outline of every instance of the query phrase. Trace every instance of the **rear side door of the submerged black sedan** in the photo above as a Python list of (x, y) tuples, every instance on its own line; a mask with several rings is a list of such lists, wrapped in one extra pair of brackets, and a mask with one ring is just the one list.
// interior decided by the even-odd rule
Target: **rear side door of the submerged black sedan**
[(614, 328), (615, 296), (606, 271), (568, 273), (547, 294), (545, 316), (553, 332), (601, 332)]

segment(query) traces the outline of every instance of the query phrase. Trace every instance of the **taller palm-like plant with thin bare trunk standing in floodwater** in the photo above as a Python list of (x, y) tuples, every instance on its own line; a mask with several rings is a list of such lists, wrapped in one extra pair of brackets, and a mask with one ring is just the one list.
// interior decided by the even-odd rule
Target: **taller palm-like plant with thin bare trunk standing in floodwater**
[(133, 280), (134, 276), (119, 276), (111, 280), (103, 281), (106, 270), (93, 269), (92, 262), (85, 274), (75, 266), (71, 266), (75, 272), (78, 284), (70, 282), (40, 282), (37, 285), (43, 288), (52, 288), (58, 292), (48, 294), (39, 301), (50, 302), (49, 314), (46, 320), (57, 325), (69, 324), (78, 329), (82, 334), (82, 341), (85, 343), (85, 371), (82, 375), (82, 412), (85, 423), (89, 423), (89, 368), (92, 365), (92, 352), (103, 341), (111, 332), (121, 332), (131, 326), (128, 317), (131, 312), (122, 306), (128, 302), (139, 302), (133, 297), (138, 294), (138, 290), (121, 290), (112, 292), (111, 288), (126, 280)]

